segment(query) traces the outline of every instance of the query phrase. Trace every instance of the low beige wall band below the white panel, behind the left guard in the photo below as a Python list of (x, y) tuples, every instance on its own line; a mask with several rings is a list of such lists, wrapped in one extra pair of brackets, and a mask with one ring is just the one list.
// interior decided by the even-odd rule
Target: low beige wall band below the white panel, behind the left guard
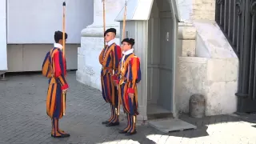
[[(79, 44), (66, 44), (66, 69), (78, 69)], [(53, 44), (8, 44), (6, 72), (40, 71), (46, 53)]]

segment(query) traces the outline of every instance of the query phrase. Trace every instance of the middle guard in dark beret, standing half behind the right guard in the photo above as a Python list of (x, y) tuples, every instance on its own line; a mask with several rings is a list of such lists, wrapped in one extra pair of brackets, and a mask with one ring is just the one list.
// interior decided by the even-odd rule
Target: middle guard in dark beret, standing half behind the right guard
[(106, 126), (119, 125), (118, 118), (118, 90), (115, 86), (114, 80), (117, 79), (118, 63), (122, 57), (122, 50), (114, 42), (116, 30), (110, 28), (105, 31), (104, 39), (107, 45), (99, 55), (99, 62), (102, 65), (101, 82), (102, 82), (102, 96), (104, 100), (110, 103), (111, 117), (102, 122)]

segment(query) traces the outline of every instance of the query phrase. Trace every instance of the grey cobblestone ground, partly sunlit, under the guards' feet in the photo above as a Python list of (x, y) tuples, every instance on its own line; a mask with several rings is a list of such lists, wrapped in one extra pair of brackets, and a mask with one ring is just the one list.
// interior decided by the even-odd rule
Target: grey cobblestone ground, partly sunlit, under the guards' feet
[(256, 143), (253, 114), (203, 119), (182, 116), (198, 129), (162, 134), (150, 126), (138, 126), (138, 134), (127, 137), (118, 134), (118, 129), (125, 126), (124, 121), (111, 128), (101, 124), (108, 118), (110, 106), (103, 102), (100, 91), (77, 82), (74, 72), (70, 72), (68, 82), (67, 111), (60, 126), (71, 136), (54, 139), (50, 137), (50, 118), (46, 116), (46, 78), (41, 74), (20, 74), (0, 81), (0, 143)]

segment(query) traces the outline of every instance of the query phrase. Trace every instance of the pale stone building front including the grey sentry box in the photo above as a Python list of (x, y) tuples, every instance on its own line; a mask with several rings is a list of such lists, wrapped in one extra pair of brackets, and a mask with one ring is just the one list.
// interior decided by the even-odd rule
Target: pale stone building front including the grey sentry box
[[(106, 0), (106, 28), (118, 28), (118, 44), (124, 3)], [(206, 115), (237, 111), (238, 56), (215, 21), (216, 11), (215, 0), (127, 1), (126, 35), (135, 38), (142, 61), (138, 118), (178, 117), (189, 111), (192, 94), (205, 96)], [(98, 90), (102, 22), (102, 1), (94, 0), (94, 23), (82, 30), (78, 48), (77, 80)]]

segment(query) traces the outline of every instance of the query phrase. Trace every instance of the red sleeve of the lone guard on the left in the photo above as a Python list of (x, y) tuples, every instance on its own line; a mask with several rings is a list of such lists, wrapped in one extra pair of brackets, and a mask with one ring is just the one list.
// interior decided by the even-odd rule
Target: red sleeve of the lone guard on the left
[(62, 90), (69, 88), (68, 83), (66, 82), (65, 73), (66, 73), (66, 64), (65, 59), (62, 56), (62, 51), (58, 50), (54, 54), (54, 77), (59, 79), (59, 82), (62, 85)]

